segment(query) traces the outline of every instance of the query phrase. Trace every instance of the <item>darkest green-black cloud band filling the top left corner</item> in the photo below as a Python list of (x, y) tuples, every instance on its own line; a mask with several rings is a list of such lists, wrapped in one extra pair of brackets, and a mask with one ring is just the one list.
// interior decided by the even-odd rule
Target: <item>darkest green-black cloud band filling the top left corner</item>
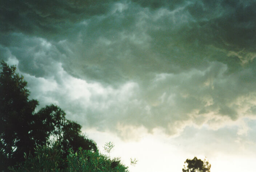
[(23, 32), (41, 37), (68, 34), (71, 24), (109, 10), (112, 1), (10, 0), (0, 3), (1, 32)]

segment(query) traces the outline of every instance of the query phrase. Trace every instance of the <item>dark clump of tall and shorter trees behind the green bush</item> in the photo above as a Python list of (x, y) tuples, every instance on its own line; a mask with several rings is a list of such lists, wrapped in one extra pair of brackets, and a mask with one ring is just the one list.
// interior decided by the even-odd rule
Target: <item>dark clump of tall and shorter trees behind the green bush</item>
[(37, 146), (55, 141), (63, 156), (69, 148), (97, 151), (96, 144), (81, 134), (81, 125), (67, 120), (59, 107), (50, 105), (35, 113), (38, 102), (28, 99), (27, 82), (15, 70), (1, 61), (0, 171), (24, 161), (24, 153), (33, 156)]

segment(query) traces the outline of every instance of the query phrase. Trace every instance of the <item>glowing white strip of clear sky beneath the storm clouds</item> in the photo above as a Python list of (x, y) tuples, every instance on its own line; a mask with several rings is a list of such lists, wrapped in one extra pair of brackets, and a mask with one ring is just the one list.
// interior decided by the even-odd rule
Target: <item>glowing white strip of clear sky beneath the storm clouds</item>
[[(164, 134), (159, 136), (160, 133), (147, 134), (141, 137), (140, 140), (126, 142), (108, 132), (90, 129), (86, 133), (88, 138), (95, 140), (97, 147), (103, 154), (105, 154), (104, 144), (109, 141), (113, 142), (115, 147), (110, 154), (111, 158), (120, 157), (131, 172), (179, 172), (182, 171), (184, 161), (193, 159), (194, 156), (201, 160), (206, 158), (211, 164), (211, 172), (254, 172), (252, 164), (254, 164), (256, 158), (239, 156), (239, 152), (236, 156), (225, 155), (218, 150), (212, 150), (215, 152), (215, 155), (212, 156), (194, 155), (185, 152), (177, 145), (171, 144), (172, 138), (166, 138)], [(137, 164), (131, 165), (130, 158), (136, 158), (138, 160)]]

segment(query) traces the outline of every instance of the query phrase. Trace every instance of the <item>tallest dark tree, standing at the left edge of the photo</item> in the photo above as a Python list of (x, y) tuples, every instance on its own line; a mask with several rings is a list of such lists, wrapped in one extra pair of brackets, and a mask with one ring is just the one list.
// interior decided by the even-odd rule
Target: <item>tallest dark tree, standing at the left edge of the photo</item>
[[(31, 133), (36, 100), (28, 100), (29, 91), (23, 76), (1, 61), (0, 73), (0, 166), (14, 165), (23, 153), (33, 151), (35, 140)], [(1, 169), (2, 170), (2, 169)]]

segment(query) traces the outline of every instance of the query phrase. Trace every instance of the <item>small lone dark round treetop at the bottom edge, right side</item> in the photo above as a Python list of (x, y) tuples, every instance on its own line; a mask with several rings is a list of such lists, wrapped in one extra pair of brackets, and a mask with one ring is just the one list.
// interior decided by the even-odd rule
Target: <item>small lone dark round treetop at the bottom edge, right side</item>
[(193, 159), (187, 159), (184, 163), (187, 166), (184, 165), (183, 172), (210, 172), (211, 169), (211, 164), (205, 159), (202, 161), (195, 157)]

